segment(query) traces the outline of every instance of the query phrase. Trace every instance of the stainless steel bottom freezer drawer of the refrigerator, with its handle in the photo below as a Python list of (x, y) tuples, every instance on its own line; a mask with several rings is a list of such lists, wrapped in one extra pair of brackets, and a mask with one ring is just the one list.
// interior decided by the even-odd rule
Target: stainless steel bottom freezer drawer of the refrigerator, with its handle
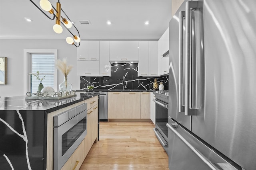
[(170, 170), (241, 170), (240, 166), (224, 160), (182, 125), (173, 119), (169, 122), (166, 126), (171, 138), (169, 146), (172, 148), (169, 150)]

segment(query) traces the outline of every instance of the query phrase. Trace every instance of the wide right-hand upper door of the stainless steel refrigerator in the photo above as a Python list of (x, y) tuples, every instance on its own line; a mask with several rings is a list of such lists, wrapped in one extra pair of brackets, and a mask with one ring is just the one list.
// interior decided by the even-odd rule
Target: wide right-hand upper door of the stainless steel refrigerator
[[(203, 86), (201, 91), (194, 91), (201, 94), (198, 100), (201, 103), (192, 116), (192, 132), (244, 169), (253, 170), (256, 167), (256, 1), (198, 3), (202, 8), (192, 12), (192, 30), (195, 29), (192, 43), (200, 42), (202, 37), (196, 36), (196, 29), (203, 25), (199, 32), (204, 33), (201, 45), (204, 57), (202, 65), (194, 69), (202, 70), (199, 82)], [(194, 48), (199, 49), (198, 45), (192, 45), (192, 62), (200, 56), (193, 53)], [(191, 77), (197, 73), (192, 72)], [(196, 103), (190, 103), (193, 102)]]

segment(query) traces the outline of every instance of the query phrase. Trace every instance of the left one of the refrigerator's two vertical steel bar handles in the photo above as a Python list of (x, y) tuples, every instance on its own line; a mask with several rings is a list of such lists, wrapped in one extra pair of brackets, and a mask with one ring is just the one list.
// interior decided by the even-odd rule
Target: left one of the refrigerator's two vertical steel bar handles
[(178, 111), (184, 112), (183, 106), (183, 20), (185, 19), (185, 11), (179, 12), (179, 100)]

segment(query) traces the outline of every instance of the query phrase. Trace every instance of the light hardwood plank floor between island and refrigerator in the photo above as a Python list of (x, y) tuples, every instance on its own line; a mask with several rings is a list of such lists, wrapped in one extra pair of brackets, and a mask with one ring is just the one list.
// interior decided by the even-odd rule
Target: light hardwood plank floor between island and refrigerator
[(100, 122), (100, 140), (80, 170), (169, 170), (153, 128), (152, 122)]

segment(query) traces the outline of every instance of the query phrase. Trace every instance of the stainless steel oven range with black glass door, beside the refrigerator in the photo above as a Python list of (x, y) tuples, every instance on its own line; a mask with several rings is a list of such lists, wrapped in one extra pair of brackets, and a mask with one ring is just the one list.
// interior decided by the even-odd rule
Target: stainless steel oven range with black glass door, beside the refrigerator
[(156, 137), (168, 154), (168, 107), (169, 93), (167, 90), (154, 92), (156, 99), (156, 128), (154, 129)]

